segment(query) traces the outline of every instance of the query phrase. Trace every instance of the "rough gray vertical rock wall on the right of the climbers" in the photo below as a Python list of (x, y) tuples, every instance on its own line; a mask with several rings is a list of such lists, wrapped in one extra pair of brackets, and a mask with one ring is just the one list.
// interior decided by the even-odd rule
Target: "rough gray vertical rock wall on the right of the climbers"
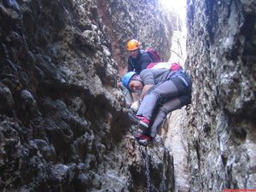
[(256, 189), (256, 3), (188, 2), (191, 191)]

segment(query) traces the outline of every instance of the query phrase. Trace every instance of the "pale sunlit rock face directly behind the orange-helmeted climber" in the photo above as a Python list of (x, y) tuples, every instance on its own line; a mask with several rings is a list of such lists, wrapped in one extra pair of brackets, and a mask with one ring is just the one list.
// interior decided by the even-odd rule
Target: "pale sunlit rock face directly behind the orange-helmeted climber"
[(155, 48), (163, 60), (170, 57), (174, 15), (167, 14), (157, 0), (97, 0), (99, 13), (111, 37), (112, 53), (118, 63), (121, 77), (127, 71), (126, 44), (137, 38), (142, 48)]

